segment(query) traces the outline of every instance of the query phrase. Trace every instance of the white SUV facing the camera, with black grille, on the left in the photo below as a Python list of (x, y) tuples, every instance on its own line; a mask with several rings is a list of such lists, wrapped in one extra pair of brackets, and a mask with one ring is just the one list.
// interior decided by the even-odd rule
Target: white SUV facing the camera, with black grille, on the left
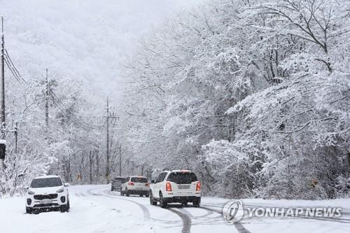
[(69, 193), (59, 176), (38, 176), (26, 187), (26, 212), (32, 213), (40, 209), (59, 209), (69, 211)]

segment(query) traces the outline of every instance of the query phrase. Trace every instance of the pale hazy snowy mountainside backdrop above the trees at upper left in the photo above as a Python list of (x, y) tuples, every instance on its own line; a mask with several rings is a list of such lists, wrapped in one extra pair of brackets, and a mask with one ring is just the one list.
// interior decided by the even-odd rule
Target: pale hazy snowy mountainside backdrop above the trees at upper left
[[(202, 0), (203, 1), (203, 0)], [(83, 80), (118, 97), (120, 62), (139, 38), (181, 8), (201, 0), (0, 0), (6, 48), (25, 78)], [(10, 77), (9, 77), (10, 78)]]

